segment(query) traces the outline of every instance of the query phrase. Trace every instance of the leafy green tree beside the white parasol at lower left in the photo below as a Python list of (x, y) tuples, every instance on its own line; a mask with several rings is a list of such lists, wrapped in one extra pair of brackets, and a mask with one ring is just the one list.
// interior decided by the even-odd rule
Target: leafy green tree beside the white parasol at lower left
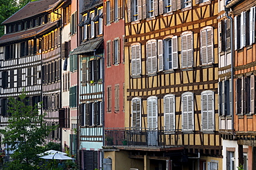
[(44, 151), (42, 145), (50, 131), (56, 127), (46, 126), (44, 115), (39, 114), (37, 105), (26, 105), (26, 94), (19, 98), (10, 98), (8, 103), (8, 125), (1, 130), (3, 143), (10, 146), (9, 150), (14, 151), (6, 169), (35, 169), (39, 162), (38, 153)]

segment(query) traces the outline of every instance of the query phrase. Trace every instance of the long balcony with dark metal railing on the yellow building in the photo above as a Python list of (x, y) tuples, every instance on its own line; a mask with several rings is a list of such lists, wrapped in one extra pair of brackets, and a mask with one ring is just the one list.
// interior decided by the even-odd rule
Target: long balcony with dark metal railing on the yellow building
[[(174, 148), (184, 147), (191, 152), (205, 154), (221, 154), (221, 140), (217, 132), (203, 133), (202, 131), (183, 132), (140, 129), (104, 129), (106, 147), (140, 147), (140, 148)], [(212, 140), (209, 140), (212, 139)]]

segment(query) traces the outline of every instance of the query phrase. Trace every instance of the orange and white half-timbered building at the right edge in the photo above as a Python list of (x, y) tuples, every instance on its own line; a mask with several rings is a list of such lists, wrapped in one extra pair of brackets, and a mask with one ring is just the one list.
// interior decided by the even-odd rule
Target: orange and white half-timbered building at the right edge
[(255, 6), (255, 1), (220, 1), (219, 6), (219, 129), (223, 169), (256, 167)]

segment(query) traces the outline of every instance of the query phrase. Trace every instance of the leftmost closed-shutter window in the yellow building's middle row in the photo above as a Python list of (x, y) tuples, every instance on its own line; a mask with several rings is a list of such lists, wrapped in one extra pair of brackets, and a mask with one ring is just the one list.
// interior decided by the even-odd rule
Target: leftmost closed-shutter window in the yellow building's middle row
[(141, 62), (140, 62), (140, 44), (131, 45), (131, 75), (136, 76), (141, 74)]

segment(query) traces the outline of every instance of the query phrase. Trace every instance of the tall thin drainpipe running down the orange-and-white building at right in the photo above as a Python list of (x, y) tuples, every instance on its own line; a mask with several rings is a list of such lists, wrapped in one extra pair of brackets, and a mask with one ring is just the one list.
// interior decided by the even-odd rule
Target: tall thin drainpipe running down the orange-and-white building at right
[(231, 121), (232, 121), (232, 132), (234, 133), (234, 40), (233, 40), (233, 19), (232, 17), (228, 16), (229, 12), (229, 7), (228, 7), (228, 1), (226, 0), (226, 6), (225, 6), (225, 11), (226, 11), (226, 17), (230, 19), (230, 40), (231, 40)]

